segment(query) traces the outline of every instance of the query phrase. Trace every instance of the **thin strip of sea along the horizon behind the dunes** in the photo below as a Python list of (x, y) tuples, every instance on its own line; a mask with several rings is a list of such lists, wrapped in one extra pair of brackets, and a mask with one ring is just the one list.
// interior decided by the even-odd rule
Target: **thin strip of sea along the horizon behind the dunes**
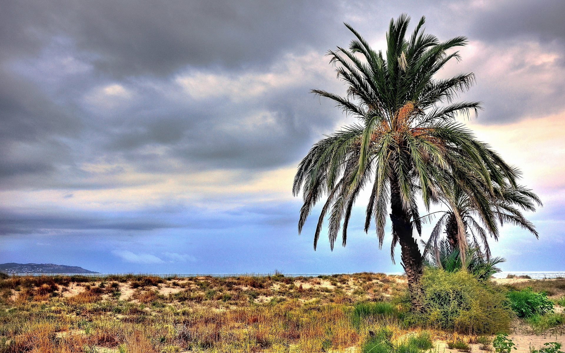
[[(12, 273), (10, 273), (12, 274)], [(197, 277), (197, 276), (214, 276), (214, 277), (231, 277), (231, 276), (268, 276), (273, 273), (15, 273), (16, 276), (94, 276), (103, 277), (109, 275), (123, 274), (144, 274), (158, 277)], [(286, 277), (318, 277), (331, 276), (333, 273), (283, 273)], [(348, 273), (349, 274), (349, 273)], [(403, 274), (402, 272), (387, 272), (386, 274)], [(529, 276), (534, 280), (544, 278), (565, 278), (565, 271), (502, 271), (494, 274), (495, 278), (506, 278), (509, 274), (514, 276)]]

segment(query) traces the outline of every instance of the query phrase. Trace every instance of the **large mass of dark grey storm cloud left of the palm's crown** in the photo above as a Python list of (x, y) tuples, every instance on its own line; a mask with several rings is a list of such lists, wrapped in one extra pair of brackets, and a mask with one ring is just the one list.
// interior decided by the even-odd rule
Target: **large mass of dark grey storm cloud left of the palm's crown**
[[(10, 177), (5, 184), (10, 187), (54, 181), (63, 187), (81, 185), (57, 173), (84, 177), (88, 173), (77, 165), (100, 155), (136, 161), (145, 169), (163, 168), (155, 160), (162, 162), (163, 155), (140, 152), (147, 146), (171, 146), (169, 156), (187, 162), (211, 160), (207, 167), (287, 163), (306, 145), (312, 129), (329, 127), (334, 119), (308, 116), (310, 107), (301, 96), (310, 87), (294, 87), (286, 97), (273, 90), (265, 102), (247, 102), (275, 116), (281, 129), (242, 135), (237, 124), (231, 131), (218, 125), (227, 115), (244, 119), (250, 114), (244, 104), (223, 99), (205, 107), (187, 97), (171, 101), (167, 94), (175, 88), (167, 80), (187, 67), (239, 75), (249, 69), (268, 71), (291, 51), (323, 52), (336, 36), (346, 34), (334, 16), (340, 8), (340, 2), (327, 1), (6, 3), (0, 13), (6, 78), (0, 91), (0, 144), (5, 146), (0, 177)], [(165, 86), (147, 91), (136, 77)], [(85, 107), (85, 95), (116, 82), (139, 94), (125, 108), (108, 113)], [(29, 151), (20, 148), (22, 143)], [(37, 177), (21, 178), (30, 174)]]

